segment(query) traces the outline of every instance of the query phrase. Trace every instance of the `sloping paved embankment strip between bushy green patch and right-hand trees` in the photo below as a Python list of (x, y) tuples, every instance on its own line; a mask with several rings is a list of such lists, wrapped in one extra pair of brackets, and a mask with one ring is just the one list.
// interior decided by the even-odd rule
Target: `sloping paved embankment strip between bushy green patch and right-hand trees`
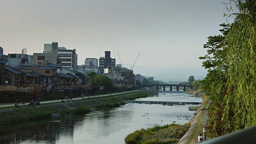
[(186, 134), (180, 139), (178, 144), (196, 144), (196, 139), (199, 136), (199, 133), (202, 133), (203, 129), (203, 120), (206, 112), (205, 108), (208, 104), (208, 96), (192, 90), (189, 91), (188, 94), (193, 94), (202, 98), (203, 102), (198, 110), (195, 112), (195, 116), (191, 118), (191, 120), (188, 122), (190, 128), (188, 129)]

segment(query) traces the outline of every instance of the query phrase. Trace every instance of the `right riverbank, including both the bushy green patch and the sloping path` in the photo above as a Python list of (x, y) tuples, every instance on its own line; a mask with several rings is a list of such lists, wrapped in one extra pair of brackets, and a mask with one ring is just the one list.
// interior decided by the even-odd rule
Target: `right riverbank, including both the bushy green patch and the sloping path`
[(196, 143), (198, 132), (202, 131), (202, 121), (205, 115), (205, 108), (208, 104), (208, 97), (196, 91), (190, 91), (188, 94), (194, 94), (196, 97), (203, 99), (202, 104), (194, 113), (195, 116), (188, 124), (178, 125), (169, 124), (167, 126), (155, 126), (147, 130), (136, 130), (129, 134), (125, 142), (126, 144), (190, 144)]

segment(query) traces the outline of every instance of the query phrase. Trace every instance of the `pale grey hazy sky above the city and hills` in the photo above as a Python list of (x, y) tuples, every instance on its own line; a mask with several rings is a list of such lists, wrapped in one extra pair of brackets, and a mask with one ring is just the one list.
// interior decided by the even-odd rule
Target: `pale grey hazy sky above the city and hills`
[(226, 22), (223, 1), (0, 0), (0, 46), (4, 54), (22, 48), (33, 54), (54, 41), (76, 48), (79, 65), (106, 50), (118, 64), (118, 50), (127, 68), (141, 52), (135, 65), (148, 69), (136, 73), (165, 67), (167, 73), (191, 68), (205, 75), (198, 57), (206, 54), (207, 37), (219, 34), (219, 24)]

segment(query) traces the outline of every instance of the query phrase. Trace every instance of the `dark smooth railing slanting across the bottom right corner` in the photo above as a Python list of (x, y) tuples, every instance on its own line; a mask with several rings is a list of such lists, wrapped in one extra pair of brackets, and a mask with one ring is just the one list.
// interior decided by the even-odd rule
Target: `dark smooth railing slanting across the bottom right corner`
[(255, 144), (256, 126), (207, 140), (202, 144)]

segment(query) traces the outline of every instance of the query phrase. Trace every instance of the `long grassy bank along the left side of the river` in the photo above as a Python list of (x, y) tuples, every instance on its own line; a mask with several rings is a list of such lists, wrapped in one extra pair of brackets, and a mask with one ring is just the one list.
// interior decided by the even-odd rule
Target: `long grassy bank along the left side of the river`
[(146, 91), (131, 92), (114, 96), (102, 96), (87, 98), (85, 100), (74, 100), (73, 102), (54, 102), (40, 106), (21, 106), (21, 108), (6, 107), (0, 110), (0, 123), (20, 122), (24, 120), (35, 120), (50, 118), (52, 113), (59, 114), (87, 114), (90, 108), (112, 108), (124, 105), (124, 100), (147, 97), (152, 94)]

